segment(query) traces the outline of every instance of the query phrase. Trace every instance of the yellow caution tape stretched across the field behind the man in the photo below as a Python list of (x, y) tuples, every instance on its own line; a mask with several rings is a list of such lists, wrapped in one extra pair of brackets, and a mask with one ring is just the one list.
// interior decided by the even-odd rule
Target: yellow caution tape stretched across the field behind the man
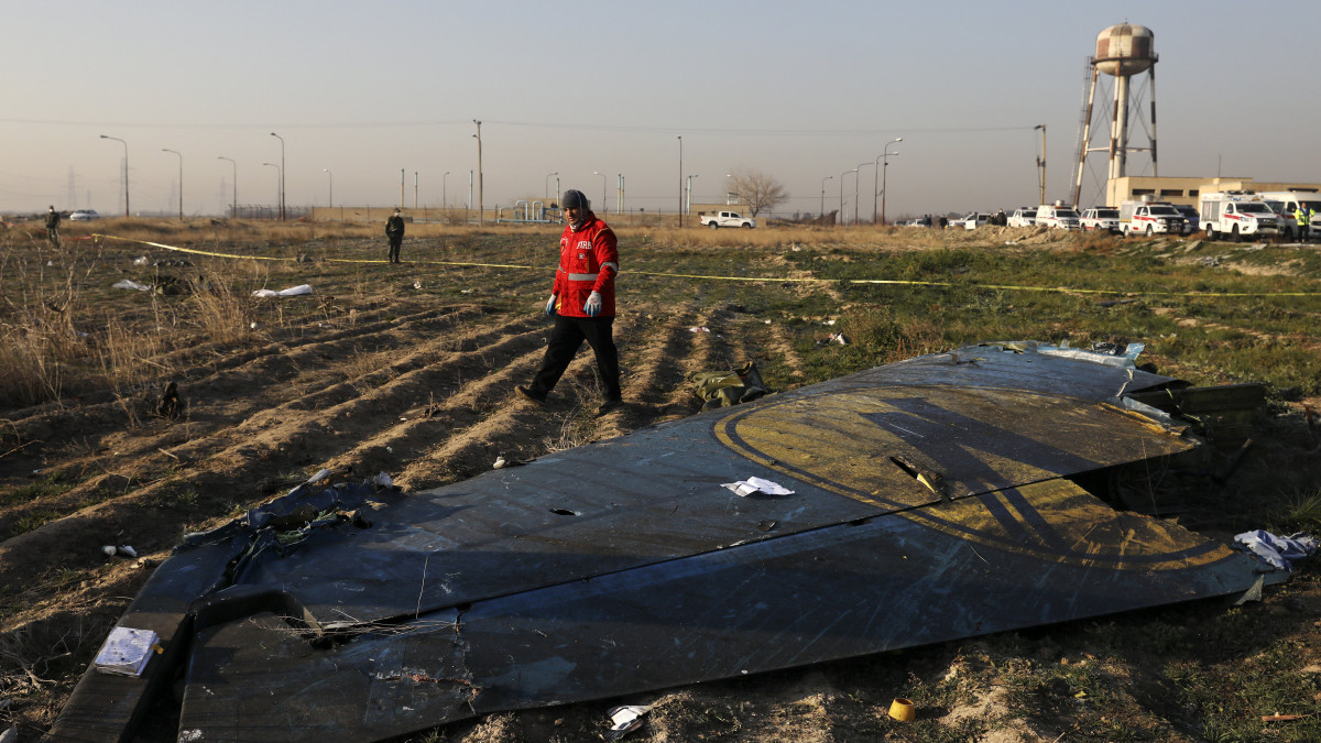
[[(209, 250), (196, 250), (192, 247), (178, 247), (159, 242), (120, 238), (92, 233), (91, 237), (114, 239), (119, 242), (132, 242), (149, 245), (161, 250), (177, 253), (190, 253), (193, 255), (210, 255), (213, 258), (235, 258), (250, 260), (297, 260), (297, 258), (276, 258), (269, 255), (235, 255), (232, 253), (214, 253)], [(384, 258), (321, 258), (330, 263), (388, 263)], [(517, 268), (520, 271), (546, 271), (544, 266), (519, 266), (513, 263), (466, 263), (458, 260), (413, 260), (427, 266), (466, 266), (470, 268)], [(635, 276), (659, 276), (666, 279), (700, 279), (704, 282), (778, 282), (778, 283), (828, 283), (828, 284), (893, 284), (909, 287), (963, 287), (970, 290), (1000, 290), (1025, 292), (1058, 292), (1058, 293), (1114, 293), (1114, 295), (1149, 295), (1149, 296), (1205, 296), (1205, 297), (1242, 297), (1242, 296), (1321, 296), (1318, 292), (1162, 292), (1162, 291), (1133, 291), (1133, 290), (1083, 290), (1077, 287), (1025, 287), (1020, 284), (974, 284), (954, 282), (918, 282), (911, 279), (820, 279), (816, 276), (713, 276), (704, 274), (667, 274), (659, 271), (629, 271)]]

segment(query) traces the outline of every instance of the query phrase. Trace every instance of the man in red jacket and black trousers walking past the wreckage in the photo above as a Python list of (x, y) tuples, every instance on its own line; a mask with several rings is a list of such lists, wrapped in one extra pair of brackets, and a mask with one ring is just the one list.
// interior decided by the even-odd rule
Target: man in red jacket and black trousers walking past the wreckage
[(546, 405), (546, 395), (587, 341), (596, 354), (596, 372), (605, 393), (605, 402), (596, 411), (600, 416), (624, 403), (620, 352), (614, 348), (614, 276), (620, 272), (620, 249), (614, 231), (596, 218), (581, 190), (564, 192), (560, 209), (567, 226), (560, 235), (555, 288), (546, 303), (546, 315), (555, 320), (555, 328), (532, 383), (514, 389), (523, 398)]

